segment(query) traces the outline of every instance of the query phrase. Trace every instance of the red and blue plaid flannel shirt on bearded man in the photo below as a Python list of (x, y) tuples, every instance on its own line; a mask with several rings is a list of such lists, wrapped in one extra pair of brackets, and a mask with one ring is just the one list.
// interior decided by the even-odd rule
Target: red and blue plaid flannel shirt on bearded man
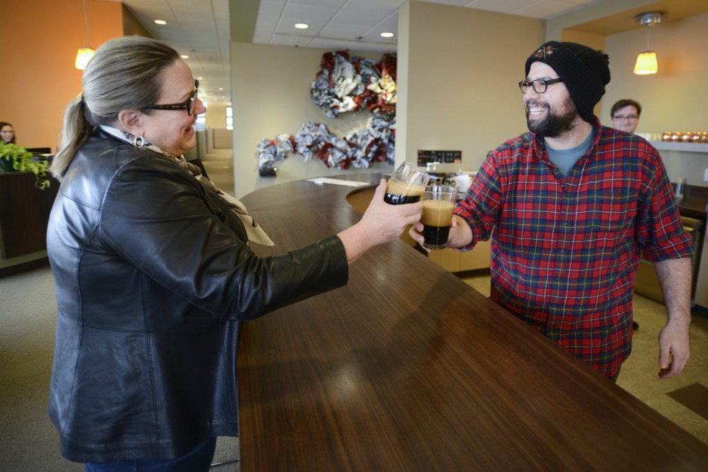
[(689, 258), (673, 188), (656, 149), (593, 124), (590, 149), (564, 177), (526, 133), (489, 153), (455, 213), (471, 249), (491, 236), (491, 299), (613, 376), (632, 349), (639, 251)]

